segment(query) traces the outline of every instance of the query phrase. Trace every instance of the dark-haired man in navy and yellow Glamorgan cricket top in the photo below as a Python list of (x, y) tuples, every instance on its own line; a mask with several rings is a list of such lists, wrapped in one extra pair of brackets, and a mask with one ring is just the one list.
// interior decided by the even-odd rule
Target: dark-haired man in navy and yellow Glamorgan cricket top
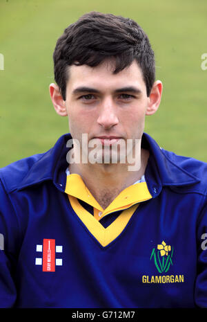
[(53, 57), (70, 134), (1, 169), (1, 307), (207, 307), (207, 167), (144, 133), (162, 92), (147, 35), (90, 12)]

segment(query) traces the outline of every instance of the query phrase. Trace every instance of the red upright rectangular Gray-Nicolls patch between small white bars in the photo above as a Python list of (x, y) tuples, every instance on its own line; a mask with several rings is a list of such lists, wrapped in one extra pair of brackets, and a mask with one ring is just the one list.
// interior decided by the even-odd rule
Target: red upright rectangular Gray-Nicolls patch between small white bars
[(43, 239), (43, 271), (55, 271), (55, 240)]

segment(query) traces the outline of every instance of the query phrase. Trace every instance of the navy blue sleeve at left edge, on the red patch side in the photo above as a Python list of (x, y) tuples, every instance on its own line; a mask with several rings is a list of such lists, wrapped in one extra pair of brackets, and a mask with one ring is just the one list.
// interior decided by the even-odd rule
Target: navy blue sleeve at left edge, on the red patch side
[(0, 307), (13, 307), (17, 298), (14, 276), (18, 239), (17, 216), (0, 179)]

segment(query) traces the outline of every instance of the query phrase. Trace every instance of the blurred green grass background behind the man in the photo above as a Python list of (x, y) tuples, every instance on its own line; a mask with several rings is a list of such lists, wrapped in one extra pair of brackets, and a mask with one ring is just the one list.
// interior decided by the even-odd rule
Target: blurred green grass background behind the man
[(68, 132), (49, 96), (52, 53), (64, 28), (92, 10), (135, 19), (150, 38), (164, 93), (145, 132), (166, 150), (207, 161), (206, 0), (0, 0), (0, 167)]

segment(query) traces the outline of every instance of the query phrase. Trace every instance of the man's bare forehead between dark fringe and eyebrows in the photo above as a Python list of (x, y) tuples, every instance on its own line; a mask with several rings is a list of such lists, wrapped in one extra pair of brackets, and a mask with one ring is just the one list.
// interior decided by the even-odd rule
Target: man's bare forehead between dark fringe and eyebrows
[(115, 62), (105, 60), (95, 67), (88, 65), (69, 66), (67, 90), (73, 91), (76, 87), (87, 86), (99, 89), (113, 89), (118, 87), (136, 86), (146, 88), (143, 74), (136, 61), (119, 73), (114, 74)]

